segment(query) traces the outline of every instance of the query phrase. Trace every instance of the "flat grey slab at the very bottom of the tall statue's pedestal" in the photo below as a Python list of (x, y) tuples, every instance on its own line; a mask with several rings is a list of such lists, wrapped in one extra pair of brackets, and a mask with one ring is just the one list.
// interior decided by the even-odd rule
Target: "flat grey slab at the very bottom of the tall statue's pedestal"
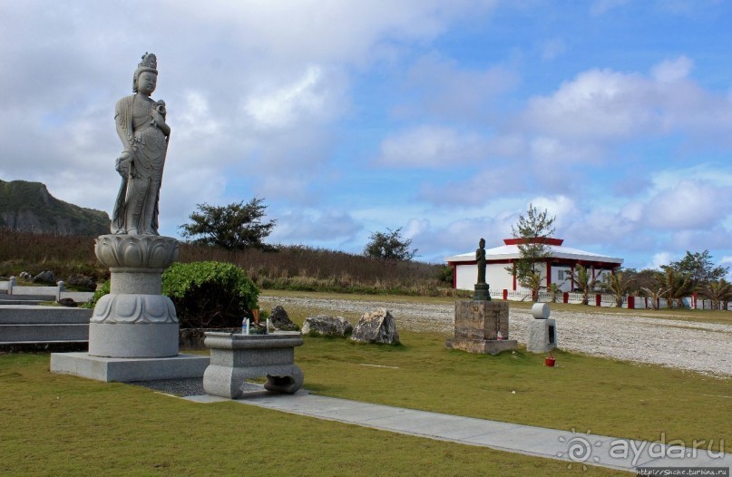
[(52, 353), (51, 372), (97, 381), (155, 381), (202, 377), (209, 356), (177, 355), (162, 358), (110, 358), (89, 353)]

